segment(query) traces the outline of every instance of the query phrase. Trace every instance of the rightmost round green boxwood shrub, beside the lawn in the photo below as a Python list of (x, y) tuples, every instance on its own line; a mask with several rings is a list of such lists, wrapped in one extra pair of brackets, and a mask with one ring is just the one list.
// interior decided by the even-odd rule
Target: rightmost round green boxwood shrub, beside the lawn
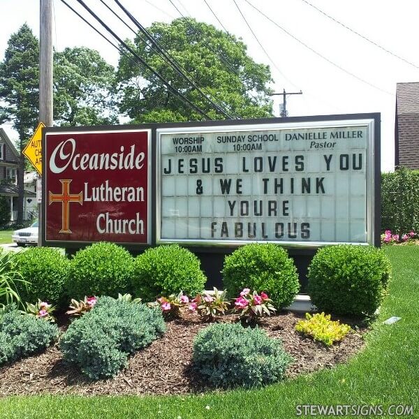
[(309, 265), (308, 292), (319, 311), (369, 316), (380, 306), (390, 274), (390, 261), (381, 249), (323, 247)]

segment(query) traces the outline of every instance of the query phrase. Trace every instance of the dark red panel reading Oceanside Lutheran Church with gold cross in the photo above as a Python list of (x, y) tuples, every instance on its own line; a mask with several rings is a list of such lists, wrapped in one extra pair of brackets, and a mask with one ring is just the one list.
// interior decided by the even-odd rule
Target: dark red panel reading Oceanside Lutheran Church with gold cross
[(150, 242), (150, 135), (46, 133), (47, 242)]

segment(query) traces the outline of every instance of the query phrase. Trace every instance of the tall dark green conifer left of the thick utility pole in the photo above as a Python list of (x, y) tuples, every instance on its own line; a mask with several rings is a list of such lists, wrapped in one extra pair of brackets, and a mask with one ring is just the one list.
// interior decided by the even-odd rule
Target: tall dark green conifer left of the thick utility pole
[(19, 135), (19, 170), (17, 170), (17, 223), (23, 219), (22, 149), (38, 124), (39, 45), (25, 23), (8, 41), (4, 60), (0, 63), (0, 124), (10, 121)]

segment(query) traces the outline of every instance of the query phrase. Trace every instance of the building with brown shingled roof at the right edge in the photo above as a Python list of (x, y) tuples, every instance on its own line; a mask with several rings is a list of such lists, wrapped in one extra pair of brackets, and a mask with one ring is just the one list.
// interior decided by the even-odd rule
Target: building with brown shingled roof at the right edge
[(419, 82), (397, 83), (395, 166), (419, 169)]

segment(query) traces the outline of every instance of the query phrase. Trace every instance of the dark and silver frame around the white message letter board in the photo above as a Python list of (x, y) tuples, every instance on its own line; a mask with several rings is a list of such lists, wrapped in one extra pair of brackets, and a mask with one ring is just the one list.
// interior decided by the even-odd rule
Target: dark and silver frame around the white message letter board
[[(177, 243), (193, 249), (210, 251), (216, 248), (235, 248), (250, 242), (267, 242), (267, 240), (188, 240), (188, 239), (167, 239), (161, 237), (161, 135), (168, 133), (212, 133), (228, 131), (268, 131), (269, 129), (304, 129), (304, 128), (334, 128), (366, 126), (368, 129), (367, 138), (367, 168), (366, 168), (366, 242), (308, 242), (308, 241), (286, 241), (269, 240), (271, 243), (279, 244), (288, 249), (304, 250), (318, 249), (319, 247), (334, 244), (372, 244), (380, 246), (380, 177), (381, 177), (381, 147), (380, 147), (380, 114), (349, 114), (349, 115), (322, 115), (313, 117), (291, 117), (291, 118), (271, 118), (253, 120), (234, 120), (234, 121), (210, 121), (195, 123), (176, 123), (164, 124), (156, 128), (156, 244)], [(190, 156), (200, 156), (200, 154), (190, 154)], [(220, 249), (221, 250), (221, 249)]]

